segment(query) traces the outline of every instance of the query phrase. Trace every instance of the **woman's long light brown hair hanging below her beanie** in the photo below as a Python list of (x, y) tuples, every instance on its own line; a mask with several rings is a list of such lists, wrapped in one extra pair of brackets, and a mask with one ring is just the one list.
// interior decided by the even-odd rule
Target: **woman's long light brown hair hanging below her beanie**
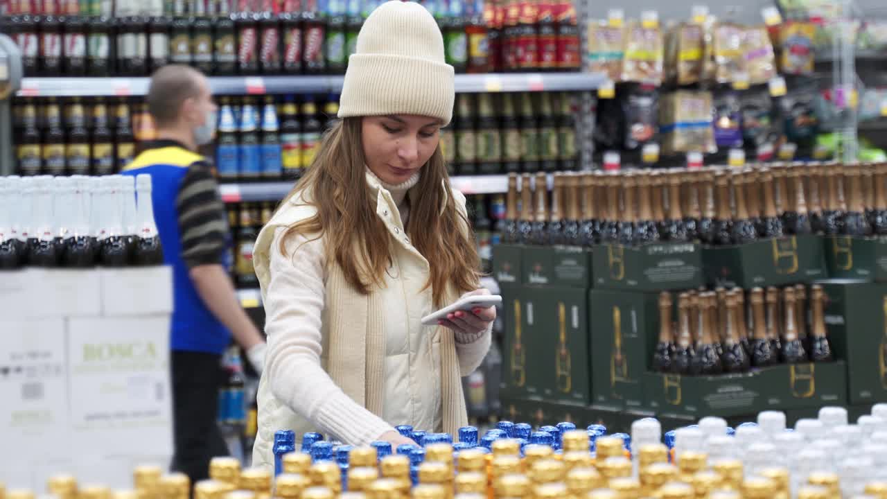
[[(390, 235), (376, 216), (376, 200), (371, 198), (365, 179), (365, 158), (361, 139), (361, 118), (348, 117), (326, 132), (308, 173), (287, 196), (302, 194), (302, 201), (317, 208), (317, 214), (287, 228), (280, 241), (293, 234), (324, 236), (326, 261), (335, 261), (351, 286), (369, 294), (381, 285), (391, 262)], [(428, 260), (430, 275), (425, 283), (432, 289), (435, 304), (442, 306), (449, 286), (457, 293), (476, 289), (480, 280), (480, 259), (464, 211), (459, 210), (450, 192), (450, 178), (438, 146), (421, 168), (413, 196), (407, 234), (412, 244)]]

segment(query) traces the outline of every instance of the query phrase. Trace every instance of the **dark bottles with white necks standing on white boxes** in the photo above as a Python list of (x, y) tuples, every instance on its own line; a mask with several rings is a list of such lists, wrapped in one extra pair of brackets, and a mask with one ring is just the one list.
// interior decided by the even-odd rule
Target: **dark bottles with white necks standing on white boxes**
[(0, 269), (162, 263), (150, 175), (0, 177)]

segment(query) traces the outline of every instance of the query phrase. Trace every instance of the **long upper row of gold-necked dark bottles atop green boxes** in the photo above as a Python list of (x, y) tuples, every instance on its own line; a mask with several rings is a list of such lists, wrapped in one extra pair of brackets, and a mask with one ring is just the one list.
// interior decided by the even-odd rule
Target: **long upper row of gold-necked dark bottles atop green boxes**
[(887, 234), (887, 163), (594, 171), (508, 178), (503, 240), (528, 244), (703, 242), (792, 234)]

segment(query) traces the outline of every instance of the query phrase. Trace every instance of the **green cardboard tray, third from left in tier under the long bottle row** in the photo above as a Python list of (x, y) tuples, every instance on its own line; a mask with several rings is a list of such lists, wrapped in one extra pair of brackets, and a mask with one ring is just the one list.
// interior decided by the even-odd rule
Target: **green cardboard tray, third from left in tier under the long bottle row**
[(593, 261), (595, 288), (663, 291), (703, 284), (699, 244), (603, 244), (595, 249)]

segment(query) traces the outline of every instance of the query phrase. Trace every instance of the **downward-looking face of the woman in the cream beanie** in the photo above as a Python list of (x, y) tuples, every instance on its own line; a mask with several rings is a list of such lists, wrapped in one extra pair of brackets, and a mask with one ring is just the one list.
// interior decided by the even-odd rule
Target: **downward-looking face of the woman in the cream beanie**
[(386, 184), (404, 183), (434, 154), (441, 124), (428, 116), (365, 116), (361, 133), (366, 166)]

